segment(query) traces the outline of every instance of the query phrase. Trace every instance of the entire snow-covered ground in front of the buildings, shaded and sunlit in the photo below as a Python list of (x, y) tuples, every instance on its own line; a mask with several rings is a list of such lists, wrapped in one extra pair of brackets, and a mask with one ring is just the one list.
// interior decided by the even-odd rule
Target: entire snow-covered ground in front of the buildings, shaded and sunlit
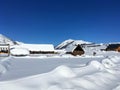
[(120, 90), (120, 53), (0, 58), (0, 90)]

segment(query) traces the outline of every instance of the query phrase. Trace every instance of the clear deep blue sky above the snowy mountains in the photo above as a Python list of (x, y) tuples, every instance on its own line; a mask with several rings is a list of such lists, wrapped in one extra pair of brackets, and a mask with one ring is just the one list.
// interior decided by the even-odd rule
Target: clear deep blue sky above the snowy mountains
[(0, 0), (0, 33), (25, 43), (120, 41), (120, 0)]

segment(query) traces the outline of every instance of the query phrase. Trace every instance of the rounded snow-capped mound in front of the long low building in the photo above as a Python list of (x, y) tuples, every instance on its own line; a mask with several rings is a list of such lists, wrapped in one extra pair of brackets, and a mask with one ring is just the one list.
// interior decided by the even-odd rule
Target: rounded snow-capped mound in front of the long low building
[(14, 56), (27, 56), (30, 54), (29, 50), (25, 48), (14, 48), (10, 50), (10, 53)]

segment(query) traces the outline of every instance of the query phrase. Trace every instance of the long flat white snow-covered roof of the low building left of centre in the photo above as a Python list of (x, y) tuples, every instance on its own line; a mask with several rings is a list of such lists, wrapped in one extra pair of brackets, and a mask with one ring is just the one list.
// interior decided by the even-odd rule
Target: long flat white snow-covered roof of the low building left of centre
[(54, 51), (52, 44), (21, 44), (20, 47), (30, 51)]

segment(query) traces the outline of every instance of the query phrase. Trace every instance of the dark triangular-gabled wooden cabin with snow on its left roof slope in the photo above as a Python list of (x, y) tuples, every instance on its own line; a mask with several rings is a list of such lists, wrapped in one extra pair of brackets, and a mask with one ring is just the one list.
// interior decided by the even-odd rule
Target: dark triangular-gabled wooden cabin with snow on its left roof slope
[(67, 54), (72, 54), (74, 56), (76, 55), (82, 55), (84, 54), (84, 50), (82, 49), (81, 45), (70, 45), (66, 48), (66, 53)]

